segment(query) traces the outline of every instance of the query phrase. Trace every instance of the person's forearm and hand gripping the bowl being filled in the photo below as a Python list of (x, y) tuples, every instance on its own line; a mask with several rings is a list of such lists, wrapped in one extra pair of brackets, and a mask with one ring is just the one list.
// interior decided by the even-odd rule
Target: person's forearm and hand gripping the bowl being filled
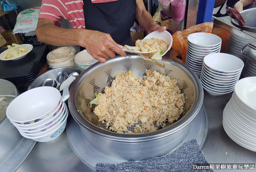
[(146, 10), (143, 0), (136, 0), (136, 4), (136, 18), (143, 29), (145, 29), (148, 33), (154, 31), (165, 31), (165, 26), (161, 27), (160, 25), (156, 24), (156, 22), (153, 20), (151, 14)]

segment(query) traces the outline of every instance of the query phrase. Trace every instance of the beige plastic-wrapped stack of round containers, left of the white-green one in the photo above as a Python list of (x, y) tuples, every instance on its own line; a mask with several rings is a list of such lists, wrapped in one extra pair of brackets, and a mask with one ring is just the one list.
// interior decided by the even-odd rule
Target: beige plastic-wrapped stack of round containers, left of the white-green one
[(46, 60), (49, 68), (59, 68), (64, 66), (75, 66), (74, 57), (76, 48), (60, 47), (47, 54)]

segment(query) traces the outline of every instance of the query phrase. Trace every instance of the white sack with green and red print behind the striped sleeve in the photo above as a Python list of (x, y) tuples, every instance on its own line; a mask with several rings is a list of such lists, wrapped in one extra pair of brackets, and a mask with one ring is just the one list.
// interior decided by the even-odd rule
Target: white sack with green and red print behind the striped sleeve
[(16, 19), (13, 33), (28, 33), (36, 30), (41, 7), (29, 8), (21, 11)]

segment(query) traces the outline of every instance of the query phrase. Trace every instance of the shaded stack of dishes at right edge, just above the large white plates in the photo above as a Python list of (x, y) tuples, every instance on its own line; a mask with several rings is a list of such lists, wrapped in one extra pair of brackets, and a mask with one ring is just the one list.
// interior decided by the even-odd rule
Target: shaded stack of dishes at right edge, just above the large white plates
[(256, 76), (256, 50), (249, 48), (249, 57), (244, 65), (243, 75), (244, 77)]

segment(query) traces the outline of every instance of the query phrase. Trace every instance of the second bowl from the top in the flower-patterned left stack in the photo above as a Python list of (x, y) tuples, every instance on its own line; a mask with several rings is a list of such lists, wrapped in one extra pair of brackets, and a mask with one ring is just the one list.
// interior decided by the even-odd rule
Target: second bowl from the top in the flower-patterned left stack
[(62, 111), (63, 111), (63, 108), (65, 107), (65, 102), (62, 102), (61, 103), (61, 107), (60, 107), (60, 111), (55, 115), (50, 115), (44, 119), (42, 119), (41, 121), (39, 122), (36, 122), (36, 123), (32, 123), (32, 124), (18, 124), (18, 123), (15, 123), (15, 122), (12, 122), (11, 123), (16, 127), (16, 128), (21, 128), (21, 129), (24, 129), (24, 130), (32, 130), (32, 129), (40, 129), (40, 128), (43, 128), (45, 126), (48, 126), (50, 124), (53, 123), (53, 121), (56, 120), (56, 118), (59, 118), (59, 116), (61, 115)]

